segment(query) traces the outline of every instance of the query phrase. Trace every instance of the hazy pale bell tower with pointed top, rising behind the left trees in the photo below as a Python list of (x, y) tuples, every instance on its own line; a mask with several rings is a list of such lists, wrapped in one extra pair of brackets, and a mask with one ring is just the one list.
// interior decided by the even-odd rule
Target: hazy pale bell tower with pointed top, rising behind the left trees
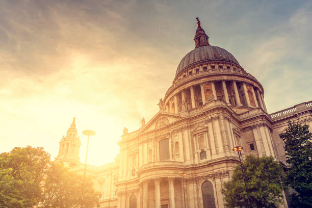
[(81, 142), (77, 136), (77, 129), (75, 124), (75, 118), (67, 130), (66, 137), (63, 137), (60, 141), (59, 154), (56, 161), (63, 162), (65, 166), (75, 166), (80, 163), (79, 150)]

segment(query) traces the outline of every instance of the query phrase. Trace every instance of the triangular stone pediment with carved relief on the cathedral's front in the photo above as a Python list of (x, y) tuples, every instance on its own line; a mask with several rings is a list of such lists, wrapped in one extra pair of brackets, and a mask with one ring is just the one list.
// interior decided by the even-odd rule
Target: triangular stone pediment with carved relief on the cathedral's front
[(149, 132), (155, 128), (164, 127), (170, 123), (184, 118), (186, 118), (184, 115), (160, 111), (154, 115), (154, 117), (152, 117), (144, 126), (141, 127), (140, 132)]

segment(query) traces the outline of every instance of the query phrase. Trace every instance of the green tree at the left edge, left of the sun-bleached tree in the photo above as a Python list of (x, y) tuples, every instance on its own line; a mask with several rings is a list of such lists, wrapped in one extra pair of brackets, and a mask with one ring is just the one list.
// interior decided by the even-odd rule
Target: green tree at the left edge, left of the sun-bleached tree
[(49, 162), (50, 155), (41, 147), (15, 147), (9, 153), (1, 153), (0, 170), (6, 191), (1, 192), (0, 204), (22, 208), (36, 205), (41, 199), (41, 181)]

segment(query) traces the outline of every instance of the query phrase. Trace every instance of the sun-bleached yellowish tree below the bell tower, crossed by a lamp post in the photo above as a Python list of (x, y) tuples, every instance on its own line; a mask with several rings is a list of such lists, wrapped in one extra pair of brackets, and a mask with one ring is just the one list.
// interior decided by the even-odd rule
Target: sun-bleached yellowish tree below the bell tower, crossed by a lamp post
[[(39, 208), (80, 207), (83, 176), (69, 171), (62, 164), (54, 163), (46, 172), (43, 199)], [(98, 204), (99, 192), (92, 188), (92, 180), (86, 177), (83, 207), (93, 208)]]

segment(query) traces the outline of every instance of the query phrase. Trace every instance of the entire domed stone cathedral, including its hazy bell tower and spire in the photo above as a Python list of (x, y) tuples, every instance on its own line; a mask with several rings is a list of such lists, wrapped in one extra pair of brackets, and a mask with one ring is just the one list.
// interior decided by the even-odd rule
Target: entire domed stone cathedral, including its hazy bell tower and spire
[[(210, 45), (198, 19), (194, 41), (159, 112), (134, 132), (124, 128), (114, 163), (87, 166), (101, 207), (223, 208), (222, 185), (239, 164), (233, 147), (244, 147), (243, 158), (272, 155), (286, 167), (279, 134), (288, 120), (312, 130), (312, 101), (268, 114), (261, 83), (228, 51)], [(57, 160), (83, 173), (79, 148), (73, 121)], [(286, 198), (281, 207), (288, 207)]]

